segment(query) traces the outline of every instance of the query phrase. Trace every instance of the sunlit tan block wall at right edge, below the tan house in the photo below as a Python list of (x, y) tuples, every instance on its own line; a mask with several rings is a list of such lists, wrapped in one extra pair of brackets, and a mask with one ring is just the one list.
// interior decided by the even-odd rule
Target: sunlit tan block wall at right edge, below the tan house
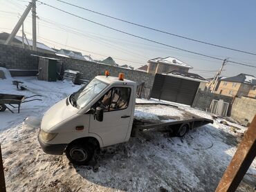
[(245, 119), (248, 119), (248, 122), (251, 123), (255, 115), (256, 99), (248, 97), (235, 98), (231, 110), (231, 117), (233, 119), (243, 124)]

